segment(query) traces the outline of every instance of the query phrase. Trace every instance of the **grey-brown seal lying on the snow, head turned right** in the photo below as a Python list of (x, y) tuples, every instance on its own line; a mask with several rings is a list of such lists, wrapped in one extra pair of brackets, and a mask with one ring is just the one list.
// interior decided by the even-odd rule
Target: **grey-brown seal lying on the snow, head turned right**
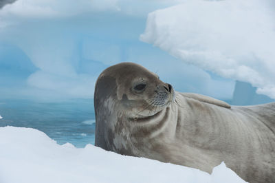
[(97, 147), (208, 173), (225, 162), (248, 182), (275, 182), (275, 103), (248, 107), (176, 92), (135, 63), (96, 82)]

